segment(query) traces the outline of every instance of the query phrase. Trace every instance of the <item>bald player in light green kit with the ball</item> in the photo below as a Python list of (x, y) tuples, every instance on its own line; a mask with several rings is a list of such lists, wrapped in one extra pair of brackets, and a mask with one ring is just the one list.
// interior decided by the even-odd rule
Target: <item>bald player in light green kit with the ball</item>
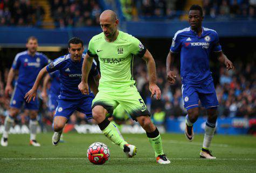
[(142, 57), (148, 66), (151, 96), (156, 95), (156, 98), (160, 99), (161, 91), (156, 85), (155, 61), (138, 39), (117, 30), (118, 24), (119, 20), (114, 11), (106, 10), (101, 13), (100, 26), (103, 32), (95, 35), (89, 42), (79, 89), (82, 93), (89, 94), (88, 69), (92, 66), (93, 58), (98, 56), (101, 78), (99, 92), (93, 100), (92, 112), (101, 131), (109, 140), (120, 146), (129, 157), (136, 154), (137, 148), (124, 141), (112, 122), (106, 118), (107, 113), (112, 114), (115, 107), (121, 104), (124, 110), (147, 132), (149, 142), (155, 150), (157, 163), (168, 164), (170, 161), (163, 153), (161, 136), (150, 120), (150, 113), (136, 89), (132, 73), (134, 55)]

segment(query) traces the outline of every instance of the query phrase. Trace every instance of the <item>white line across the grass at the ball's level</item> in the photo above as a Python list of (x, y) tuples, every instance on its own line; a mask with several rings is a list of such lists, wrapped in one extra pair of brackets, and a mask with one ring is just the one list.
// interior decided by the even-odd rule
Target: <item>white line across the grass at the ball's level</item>
[[(0, 158), (0, 160), (87, 160), (88, 158)], [(155, 160), (155, 158), (110, 158), (110, 160)], [(209, 160), (203, 158), (170, 158), (170, 160)], [(256, 158), (216, 158), (213, 160), (256, 160)]]

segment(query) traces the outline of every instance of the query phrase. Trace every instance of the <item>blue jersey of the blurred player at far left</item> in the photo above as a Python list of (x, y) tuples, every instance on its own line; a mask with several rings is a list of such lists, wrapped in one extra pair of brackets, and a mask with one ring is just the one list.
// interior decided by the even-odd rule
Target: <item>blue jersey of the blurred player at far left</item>
[(27, 51), (18, 53), (12, 63), (12, 68), (19, 70), (17, 83), (32, 87), (39, 71), (50, 62), (46, 55), (39, 52), (34, 56)]

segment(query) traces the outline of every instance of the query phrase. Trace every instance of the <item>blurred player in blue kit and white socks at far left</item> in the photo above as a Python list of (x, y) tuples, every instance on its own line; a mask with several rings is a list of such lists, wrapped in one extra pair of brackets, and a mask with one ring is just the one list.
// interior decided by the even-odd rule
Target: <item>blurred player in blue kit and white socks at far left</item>
[(37, 38), (28, 38), (26, 42), (27, 51), (20, 52), (15, 56), (15, 60), (13, 61), (12, 67), (9, 71), (5, 87), (6, 97), (12, 91), (11, 82), (15, 76), (15, 71), (17, 70), (18, 80), (15, 83), (15, 89), (11, 97), (9, 116), (7, 116), (4, 121), (4, 132), (1, 139), (2, 146), (8, 146), (9, 130), (13, 124), (14, 118), (20, 112), (23, 103), (25, 103), (24, 109), (29, 110), (30, 115), (30, 145), (35, 147), (40, 146), (36, 141), (38, 101), (37, 99), (34, 99), (32, 102), (26, 103), (24, 99), (25, 93), (33, 86), (34, 80), (36, 80), (39, 71), (50, 62), (44, 54), (37, 52), (37, 47)]

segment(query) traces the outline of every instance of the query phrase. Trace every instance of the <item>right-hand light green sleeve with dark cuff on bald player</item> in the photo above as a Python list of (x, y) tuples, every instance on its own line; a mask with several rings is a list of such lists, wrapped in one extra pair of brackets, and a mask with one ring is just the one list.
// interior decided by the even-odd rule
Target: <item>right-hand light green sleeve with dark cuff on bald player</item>
[(137, 38), (135, 37), (132, 37), (132, 39), (130, 39), (130, 52), (134, 55), (137, 55), (139, 57), (143, 57), (144, 54), (146, 53), (147, 51), (147, 48), (144, 47), (142, 45), (142, 43), (140, 42), (140, 40), (138, 40)]

